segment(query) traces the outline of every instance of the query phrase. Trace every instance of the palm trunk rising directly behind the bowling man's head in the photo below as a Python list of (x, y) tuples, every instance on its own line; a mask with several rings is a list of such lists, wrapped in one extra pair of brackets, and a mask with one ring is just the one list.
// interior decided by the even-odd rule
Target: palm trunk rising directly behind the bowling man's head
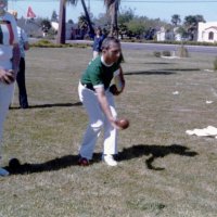
[(116, 34), (118, 37), (118, 27), (117, 27), (117, 12), (119, 10), (120, 0), (104, 0), (106, 11), (111, 16), (111, 30), (110, 35), (113, 36)]

